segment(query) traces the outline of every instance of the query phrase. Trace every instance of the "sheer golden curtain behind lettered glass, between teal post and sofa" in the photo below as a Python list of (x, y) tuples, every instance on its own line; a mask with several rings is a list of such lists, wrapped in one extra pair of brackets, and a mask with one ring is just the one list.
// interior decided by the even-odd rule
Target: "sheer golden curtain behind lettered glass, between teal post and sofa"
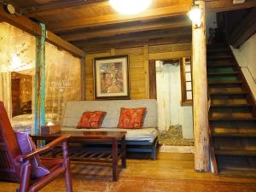
[(45, 44), (45, 121), (61, 123), (67, 101), (81, 100), (80, 59)]

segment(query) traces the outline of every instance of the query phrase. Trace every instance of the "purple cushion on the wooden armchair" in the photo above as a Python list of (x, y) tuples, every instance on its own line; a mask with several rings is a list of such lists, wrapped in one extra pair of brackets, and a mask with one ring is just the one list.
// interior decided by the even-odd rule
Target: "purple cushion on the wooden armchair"
[[(15, 136), (20, 146), (21, 154), (30, 154), (36, 150), (36, 145), (33, 143), (32, 138), (26, 132), (15, 131)], [(30, 160), (32, 165), (32, 178), (44, 177), (49, 174), (49, 170), (41, 165), (38, 155)]]

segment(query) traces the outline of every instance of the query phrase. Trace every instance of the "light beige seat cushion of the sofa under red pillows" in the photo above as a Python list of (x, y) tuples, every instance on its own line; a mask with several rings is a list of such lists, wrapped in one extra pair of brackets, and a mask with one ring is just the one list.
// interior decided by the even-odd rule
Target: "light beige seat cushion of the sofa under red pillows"
[(75, 127), (62, 127), (61, 131), (126, 131), (126, 141), (143, 141), (153, 143), (154, 139), (158, 137), (159, 132), (155, 128), (143, 128), (143, 129), (113, 129), (101, 127), (96, 130), (88, 129), (75, 129)]

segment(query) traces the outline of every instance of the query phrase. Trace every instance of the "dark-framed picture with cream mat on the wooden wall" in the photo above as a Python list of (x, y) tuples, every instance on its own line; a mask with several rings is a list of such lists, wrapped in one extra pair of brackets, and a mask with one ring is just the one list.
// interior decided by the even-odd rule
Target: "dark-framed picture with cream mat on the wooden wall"
[(130, 99), (128, 55), (94, 60), (96, 100)]

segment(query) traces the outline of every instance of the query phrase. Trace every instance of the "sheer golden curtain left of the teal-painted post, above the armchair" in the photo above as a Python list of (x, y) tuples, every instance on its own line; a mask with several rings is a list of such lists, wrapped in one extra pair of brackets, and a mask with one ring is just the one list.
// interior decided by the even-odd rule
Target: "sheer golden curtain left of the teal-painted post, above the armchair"
[[(0, 23), (0, 100), (4, 102), (9, 118), (13, 110), (12, 73), (26, 74), (32, 79), (34, 68), (35, 38), (8, 23)], [(26, 80), (21, 82), (26, 84)], [(20, 89), (20, 96), (32, 96), (32, 93)]]

